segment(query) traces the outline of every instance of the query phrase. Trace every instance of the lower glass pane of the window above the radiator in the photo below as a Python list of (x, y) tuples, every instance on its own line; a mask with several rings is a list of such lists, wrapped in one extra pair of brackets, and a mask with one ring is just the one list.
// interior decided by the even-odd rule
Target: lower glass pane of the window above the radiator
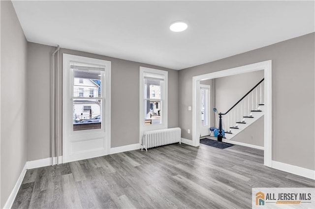
[(161, 124), (161, 101), (144, 101), (145, 125)]

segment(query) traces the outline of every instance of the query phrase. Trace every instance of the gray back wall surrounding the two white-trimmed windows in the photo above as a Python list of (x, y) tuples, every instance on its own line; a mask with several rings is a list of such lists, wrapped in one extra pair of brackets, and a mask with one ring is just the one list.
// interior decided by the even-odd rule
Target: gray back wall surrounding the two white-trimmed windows
[[(51, 53), (54, 47), (28, 44), (28, 160), (50, 157), (49, 92)], [(60, 50), (60, 80), (62, 54), (74, 54), (112, 62), (111, 69), (111, 147), (139, 143), (139, 67), (168, 71), (168, 127), (178, 127), (178, 71), (87, 52)], [(40, 76), (40, 80), (38, 79)], [(62, 86), (62, 83), (60, 83)], [(129, 92), (126, 94), (126, 90)], [(32, 99), (31, 99), (32, 98)], [(62, 98), (61, 98), (62, 101)], [(39, 107), (39, 102), (41, 105)], [(60, 104), (62, 109), (62, 104)], [(37, 107), (36, 107), (37, 106)], [(38, 128), (38, 116), (44, 116)], [(62, 118), (62, 117), (60, 117)], [(61, 123), (60, 123), (61, 125)], [(62, 130), (62, 129), (61, 129)], [(61, 144), (61, 143), (60, 143)], [(62, 149), (60, 147), (60, 153)]]

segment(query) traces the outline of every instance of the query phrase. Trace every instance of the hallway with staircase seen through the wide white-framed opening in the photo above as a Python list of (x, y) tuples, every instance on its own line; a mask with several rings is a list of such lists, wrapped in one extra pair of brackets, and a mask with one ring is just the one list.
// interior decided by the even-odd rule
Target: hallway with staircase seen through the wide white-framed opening
[[(222, 141), (263, 149), (264, 147), (264, 71), (254, 71), (233, 76), (200, 81), (201, 113), (211, 110), (213, 120), (208, 127), (201, 115), (200, 138), (218, 140), (219, 113), (221, 117)], [(204, 83), (211, 83), (211, 108), (207, 104)], [(207, 85), (206, 85), (207, 86)], [(210, 85), (209, 85), (210, 86)], [(209, 100), (210, 101), (210, 100)], [(210, 106), (208, 105), (208, 106)], [(216, 111), (214, 111), (216, 110)], [(205, 111), (206, 112), (206, 111)], [(226, 113), (226, 114), (225, 114)], [(219, 140), (220, 141), (220, 140)]]

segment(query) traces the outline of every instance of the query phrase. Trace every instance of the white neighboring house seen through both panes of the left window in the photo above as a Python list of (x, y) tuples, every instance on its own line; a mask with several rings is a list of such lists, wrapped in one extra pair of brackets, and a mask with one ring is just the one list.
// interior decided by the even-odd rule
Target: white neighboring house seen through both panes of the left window
[[(73, 131), (101, 129), (101, 71), (73, 63)], [(76, 98), (76, 96), (78, 98)], [(93, 99), (92, 99), (93, 98)], [(77, 126), (76, 124), (89, 124)], [(78, 128), (80, 127), (80, 128)]]

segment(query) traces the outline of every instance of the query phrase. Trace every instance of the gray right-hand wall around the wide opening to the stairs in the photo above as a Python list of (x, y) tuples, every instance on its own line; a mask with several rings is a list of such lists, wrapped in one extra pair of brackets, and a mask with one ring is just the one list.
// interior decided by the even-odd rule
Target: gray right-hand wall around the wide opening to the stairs
[[(193, 76), (272, 60), (272, 159), (315, 170), (315, 33), (179, 71), (179, 126), (191, 140)], [(306, 114), (302, 114), (307, 112)], [(306, 131), (303, 133), (302, 130)]]

